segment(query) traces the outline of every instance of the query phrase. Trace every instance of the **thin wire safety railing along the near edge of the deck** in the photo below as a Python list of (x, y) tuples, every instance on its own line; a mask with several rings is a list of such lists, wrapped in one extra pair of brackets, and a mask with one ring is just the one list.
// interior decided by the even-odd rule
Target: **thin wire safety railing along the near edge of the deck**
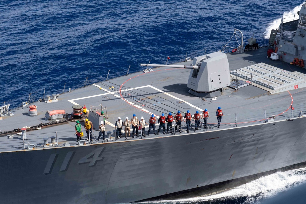
[[(226, 112), (226, 110), (223, 111)], [(217, 118), (215, 117), (215, 114), (210, 113), (211, 118), (207, 118), (207, 128), (204, 128), (204, 122), (202, 119), (200, 120), (200, 127), (199, 127), (200, 130), (197, 132), (209, 132), (215, 130), (222, 130), (225, 128), (243, 127), (250, 124), (263, 124), (271, 121), (277, 122), (281, 120), (287, 120), (306, 115), (305, 104), (295, 104), (293, 107), (282, 106), (282, 107), (266, 108), (259, 110), (248, 109), (247, 111), (248, 115), (251, 114), (252, 117), (245, 117), (244, 116), (245, 114), (243, 113), (224, 114), (224, 116), (222, 116), (220, 128), (217, 127)], [(192, 121), (190, 131), (193, 132), (192, 131), (193, 129), (194, 129), (194, 122)], [(147, 130), (148, 128), (146, 127), (146, 133)], [(173, 130), (174, 130), (174, 124), (173, 124)], [(186, 123), (182, 121), (181, 131), (175, 132), (173, 134), (175, 135), (188, 134), (186, 132)], [(50, 133), (35, 133), (35, 131), (29, 131), (26, 132), (25, 135), (26, 137), (24, 135), (9, 135), (7, 141), (2, 141), (0, 143), (0, 152), (12, 151), (12, 150), (33, 150), (39, 148), (52, 148), (52, 147), (62, 147), (62, 146), (80, 146), (80, 145), (101, 143), (101, 141), (98, 141), (99, 132), (97, 131), (91, 133), (92, 141), (87, 139), (87, 134), (84, 131), (84, 136), (82, 139), (85, 140), (84, 142), (76, 141), (75, 131), (50, 132)], [(204, 135), (205, 134), (203, 134), (203, 136)], [(116, 142), (117, 141), (116, 136), (117, 135), (115, 128), (106, 128), (105, 131), (106, 139), (104, 140), (104, 142)], [(167, 135), (159, 134), (159, 137), (161, 136), (167, 136)], [(125, 137), (124, 131), (122, 131), (122, 137)], [(14, 140), (10, 140), (9, 138), (13, 138)], [(134, 140), (135, 139), (144, 139), (141, 134), (141, 130), (139, 130), (138, 137), (135, 137)]]

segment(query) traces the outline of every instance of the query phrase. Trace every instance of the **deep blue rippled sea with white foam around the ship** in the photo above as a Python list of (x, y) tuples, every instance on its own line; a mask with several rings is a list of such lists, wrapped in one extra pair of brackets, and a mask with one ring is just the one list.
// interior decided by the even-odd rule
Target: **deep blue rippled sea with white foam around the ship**
[[(193, 58), (221, 50), (234, 28), (264, 46), (282, 15), (296, 13), (303, 2), (2, 0), (0, 106), (6, 101), (17, 107), (30, 93), (38, 100), (44, 89), (45, 95), (62, 93), (65, 83), (65, 91), (84, 86), (86, 77), (87, 84), (105, 80), (108, 70), (114, 78), (126, 74), (129, 65), (131, 73), (149, 60), (162, 64), (169, 56), (168, 63), (174, 63), (183, 61), (186, 52)], [(252, 186), (241, 187), (170, 203), (256, 203), (269, 197), (265, 191), (277, 194), (284, 186), (259, 185), (251, 193)]]

